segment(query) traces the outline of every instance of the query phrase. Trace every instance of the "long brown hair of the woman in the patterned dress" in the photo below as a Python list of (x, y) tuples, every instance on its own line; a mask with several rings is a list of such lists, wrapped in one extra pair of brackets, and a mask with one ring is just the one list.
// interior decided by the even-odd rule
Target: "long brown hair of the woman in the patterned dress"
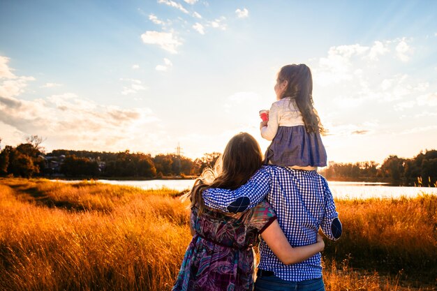
[(262, 165), (260, 145), (249, 133), (239, 133), (232, 137), (225, 151), (218, 158), (214, 170), (203, 170), (194, 186), (187, 194), (191, 207), (198, 207), (198, 215), (205, 209), (202, 191), (207, 188), (225, 188), (235, 190), (246, 184)]

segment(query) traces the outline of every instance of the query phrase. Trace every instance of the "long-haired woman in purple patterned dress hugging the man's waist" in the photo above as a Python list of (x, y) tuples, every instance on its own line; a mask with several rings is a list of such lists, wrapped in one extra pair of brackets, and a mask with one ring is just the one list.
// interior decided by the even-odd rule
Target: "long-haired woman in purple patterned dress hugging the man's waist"
[(265, 201), (249, 211), (225, 214), (205, 207), (202, 191), (208, 188), (235, 190), (262, 165), (258, 142), (248, 133), (232, 137), (213, 170), (205, 170), (188, 193), (191, 200), (191, 233), (174, 291), (253, 290), (253, 246), (258, 234), (283, 264), (294, 264), (323, 251), (315, 244), (292, 248), (276, 214)]

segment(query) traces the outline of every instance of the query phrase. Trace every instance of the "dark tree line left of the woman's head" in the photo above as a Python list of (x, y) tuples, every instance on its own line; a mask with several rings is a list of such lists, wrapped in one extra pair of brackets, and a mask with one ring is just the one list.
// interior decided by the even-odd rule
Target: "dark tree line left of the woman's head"
[[(0, 139), (1, 142), (1, 139)], [(33, 135), (17, 147), (0, 151), (0, 175), (36, 177), (135, 177), (163, 178), (198, 176), (205, 167), (213, 167), (220, 153), (204, 154), (192, 160), (176, 154), (117, 153), (56, 149), (45, 154), (41, 137)]]

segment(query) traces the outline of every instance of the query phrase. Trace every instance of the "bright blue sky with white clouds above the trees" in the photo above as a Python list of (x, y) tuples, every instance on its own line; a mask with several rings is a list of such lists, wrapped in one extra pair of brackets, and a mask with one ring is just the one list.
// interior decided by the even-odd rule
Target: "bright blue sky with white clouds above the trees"
[(311, 68), (328, 161), (437, 148), (433, 0), (0, 0), (0, 146), (265, 151), (286, 64)]

